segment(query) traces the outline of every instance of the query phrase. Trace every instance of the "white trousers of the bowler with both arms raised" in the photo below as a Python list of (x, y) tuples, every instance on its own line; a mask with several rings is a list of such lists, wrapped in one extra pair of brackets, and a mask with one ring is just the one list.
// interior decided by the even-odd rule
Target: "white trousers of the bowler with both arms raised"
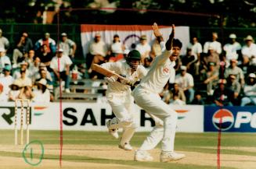
[[(132, 95), (135, 103), (151, 116), (153, 114), (153, 120), (157, 120), (156, 126), (150, 132), (150, 136), (144, 140), (140, 150), (151, 150), (161, 140), (162, 151), (174, 151), (178, 114), (168, 104), (164, 103), (157, 93), (152, 93), (141, 86), (136, 87), (132, 91)], [(164, 128), (159, 121), (164, 121)]]

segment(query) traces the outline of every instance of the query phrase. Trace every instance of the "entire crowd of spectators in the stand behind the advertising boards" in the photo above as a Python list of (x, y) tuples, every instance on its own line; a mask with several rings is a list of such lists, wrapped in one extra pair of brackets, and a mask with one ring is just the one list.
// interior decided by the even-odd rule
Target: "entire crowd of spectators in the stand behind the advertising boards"
[[(2, 37), (0, 30), (0, 100), (53, 101), (59, 79), (65, 82), (64, 92), (70, 93), (70, 72), (74, 70), (82, 78), (103, 79), (90, 69), (93, 63), (122, 61), (128, 51), (136, 49), (142, 55), (141, 64), (150, 69), (150, 64), (161, 52), (157, 40), (150, 43), (146, 35), (130, 47), (121, 41), (115, 34), (112, 43), (106, 44), (96, 33), (88, 45), (84, 66), (74, 64), (77, 44), (67, 37), (67, 33), (61, 33), (61, 40), (56, 44), (49, 33), (33, 43), (28, 33), (23, 32), (9, 57), (5, 55), (9, 40)], [(251, 35), (238, 42), (236, 34), (231, 33), (226, 44), (218, 41), (215, 32), (204, 44), (192, 37), (186, 54), (176, 62), (176, 76), (159, 94), (168, 104), (256, 105), (255, 66), (256, 44)]]

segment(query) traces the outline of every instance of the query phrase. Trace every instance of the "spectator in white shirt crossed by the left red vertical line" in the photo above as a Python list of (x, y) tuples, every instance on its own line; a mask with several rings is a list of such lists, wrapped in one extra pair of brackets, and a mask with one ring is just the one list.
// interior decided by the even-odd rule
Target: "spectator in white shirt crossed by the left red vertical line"
[[(59, 60), (59, 62), (58, 62)], [(65, 81), (65, 92), (70, 93), (70, 65), (72, 61), (67, 55), (63, 55), (63, 49), (59, 48), (56, 56), (52, 58), (50, 68), (54, 72), (55, 79)]]

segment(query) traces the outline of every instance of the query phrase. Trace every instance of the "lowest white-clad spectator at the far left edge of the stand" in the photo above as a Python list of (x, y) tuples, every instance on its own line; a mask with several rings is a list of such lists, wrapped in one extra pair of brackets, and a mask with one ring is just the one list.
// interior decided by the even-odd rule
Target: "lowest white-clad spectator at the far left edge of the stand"
[(3, 93), (8, 97), (9, 94), (9, 86), (13, 83), (13, 76), (11, 76), (11, 65), (5, 65), (3, 69), (4, 76), (0, 77), (0, 83), (3, 85)]

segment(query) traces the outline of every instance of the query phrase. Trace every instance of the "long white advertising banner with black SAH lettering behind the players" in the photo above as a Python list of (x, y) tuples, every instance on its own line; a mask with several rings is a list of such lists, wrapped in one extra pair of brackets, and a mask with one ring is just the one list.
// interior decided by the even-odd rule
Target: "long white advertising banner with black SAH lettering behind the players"
[[(174, 106), (174, 109), (178, 112), (178, 132), (204, 132), (203, 106)], [(63, 103), (62, 108), (59, 103), (32, 104), (30, 129), (59, 130), (61, 110), (64, 130), (106, 131), (106, 121), (114, 118), (109, 104)], [(20, 114), (20, 108), (18, 113)], [(20, 116), (18, 117), (20, 129)], [(137, 106), (135, 121), (139, 126), (138, 132), (151, 131), (153, 120)], [(1, 104), (0, 129), (14, 129), (14, 103)]]

